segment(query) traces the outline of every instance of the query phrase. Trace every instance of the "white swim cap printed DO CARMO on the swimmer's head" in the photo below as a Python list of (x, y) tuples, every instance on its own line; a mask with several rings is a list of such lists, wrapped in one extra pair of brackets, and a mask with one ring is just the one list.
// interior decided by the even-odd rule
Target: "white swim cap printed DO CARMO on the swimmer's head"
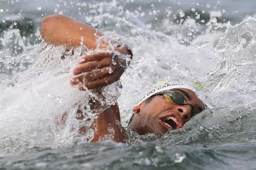
[(186, 89), (194, 91), (196, 94), (198, 91), (196, 86), (194, 86), (193, 84), (190, 84), (188, 82), (185, 82), (185, 81), (159, 82), (156, 84), (155, 88), (151, 89), (150, 91), (148, 91), (146, 93), (146, 95), (141, 99), (141, 101), (140, 101), (140, 103), (138, 103), (138, 105), (140, 105), (142, 102), (144, 102), (145, 100), (147, 100), (152, 95), (154, 95), (158, 92), (170, 90), (170, 89), (174, 89), (174, 88), (186, 88)]

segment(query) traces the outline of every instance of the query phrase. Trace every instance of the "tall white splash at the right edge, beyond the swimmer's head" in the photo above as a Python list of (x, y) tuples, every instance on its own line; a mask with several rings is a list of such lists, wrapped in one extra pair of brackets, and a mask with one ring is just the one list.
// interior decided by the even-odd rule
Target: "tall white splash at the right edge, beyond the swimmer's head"
[[(215, 71), (206, 76), (208, 90), (236, 98), (235, 103), (213, 102), (216, 106), (255, 106), (255, 21), (254, 17), (247, 17), (236, 26), (228, 26), (216, 46), (218, 62)], [(242, 43), (245, 34), (250, 35), (245, 39), (247, 46)]]

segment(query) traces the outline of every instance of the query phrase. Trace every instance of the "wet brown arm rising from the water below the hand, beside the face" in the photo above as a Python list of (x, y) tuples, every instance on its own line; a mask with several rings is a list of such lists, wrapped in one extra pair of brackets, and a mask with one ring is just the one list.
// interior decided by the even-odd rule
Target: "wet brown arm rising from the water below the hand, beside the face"
[[(91, 110), (99, 109), (100, 107), (93, 100)], [(67, 113), (56, 115), (54, 117), (54, 125), (56, 129), (64, 128), (66, 125)], [(76, 112), (76, 118), (78, 120), (84, 120), (83, 113), (80, 109)], [(91, 142), (98, 142), (100, 140), (112, 139), (115, 142), (125, 142), (127, 139), (126, 130), (121, 126), (120, 123), (120, 112), (117, 103), (106, 107), (103, 111), (99, 113), (97, 118), (93, 121), (91, 128), (94, 131), (94, 136)], [(79, 127), (78, 134), (83, 135), (87, 132), (87, 128), (84, 126)]]

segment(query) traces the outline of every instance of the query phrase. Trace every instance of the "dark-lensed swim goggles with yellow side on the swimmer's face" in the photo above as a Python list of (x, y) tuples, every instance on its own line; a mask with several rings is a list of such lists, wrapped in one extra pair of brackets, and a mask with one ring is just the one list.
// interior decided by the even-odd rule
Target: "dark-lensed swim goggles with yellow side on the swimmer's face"
[(156, 96), (156, 95), (163, 95), (164, 96), (164, 99), (170, 103), (173, 103), (173, 104), (176, 104), (176, 105), (181, 105), (181, 106), (184, 106), (184, 105), (188, 105), (191, 107), (191, 117), (194, 116), (195, 112), (194, 112), (194, 107), (193, 105), (191, 105), (190, 103), (187, 103), (185, 101), (185, 98), (184, 96), (178, 92), (178, 91), (161, 91), (159, 93), (156, 93), (154, 95), (152, 95), (151, 97), (153, 96)]

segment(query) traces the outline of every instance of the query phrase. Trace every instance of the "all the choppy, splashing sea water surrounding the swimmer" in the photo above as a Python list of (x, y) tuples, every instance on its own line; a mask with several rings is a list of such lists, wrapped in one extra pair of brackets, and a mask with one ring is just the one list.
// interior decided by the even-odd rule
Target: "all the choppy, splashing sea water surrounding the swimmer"
[[(255, 169), (255, 5), (1, 1), (0, 169)], [(131, 134), (126, 144), (84, 142), (91, 132), (78, 136), (76, 129), (90, 122), (74, 114), (89, 92), (69, 84), (84, 49), (63, 61), (64, 47), (41, 42), (40, 20), (53, 13), (91, 23), (131, 45), (134, 59), (120, 79), (123, 87), (104, 89), (110, 99), (120, 93), (123, 126), (160, 80), (200, 82), (199, 96), (208, 108), (162, 137)], [(65, 112), (67, 124), (56, 126)]]

